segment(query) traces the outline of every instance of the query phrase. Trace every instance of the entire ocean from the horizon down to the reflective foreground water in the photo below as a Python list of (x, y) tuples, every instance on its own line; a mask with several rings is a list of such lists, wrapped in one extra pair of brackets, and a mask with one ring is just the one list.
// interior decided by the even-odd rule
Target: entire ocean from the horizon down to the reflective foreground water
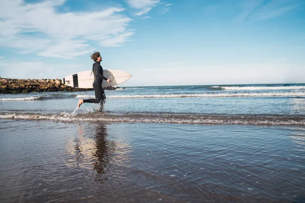
[(305, 202), (305, 84), (0, 95), (0, 202)]

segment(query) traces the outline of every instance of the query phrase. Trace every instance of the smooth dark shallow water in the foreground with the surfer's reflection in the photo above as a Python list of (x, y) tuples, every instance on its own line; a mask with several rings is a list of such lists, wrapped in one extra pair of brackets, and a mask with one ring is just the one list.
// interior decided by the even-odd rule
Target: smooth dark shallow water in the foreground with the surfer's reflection
[(305, 128), (1, 120), (1, 202), (302, 202)]

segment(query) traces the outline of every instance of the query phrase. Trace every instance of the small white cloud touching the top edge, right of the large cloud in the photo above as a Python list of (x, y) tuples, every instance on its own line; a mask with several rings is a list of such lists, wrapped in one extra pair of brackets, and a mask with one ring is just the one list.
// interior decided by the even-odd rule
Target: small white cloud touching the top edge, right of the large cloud
[(139, 10), (135, 13), (136, 16), (147, 14), (160, 3), (159, 0), (127, 0), (127, 2), (132, 8)]

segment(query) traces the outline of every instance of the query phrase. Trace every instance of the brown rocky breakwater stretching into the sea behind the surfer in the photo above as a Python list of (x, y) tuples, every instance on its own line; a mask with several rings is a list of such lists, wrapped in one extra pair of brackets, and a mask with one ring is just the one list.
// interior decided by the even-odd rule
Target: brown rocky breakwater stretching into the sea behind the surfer
[[(114, 90), (115, 87), (106, 89)], [(0, 93), (18, 94), (29, 92), (54, 92), (54, 91), (88, 91), (93, 89), (80, 89), (69, 87), (63, 84), (59, 79), (10, 79), (0, 78)]]

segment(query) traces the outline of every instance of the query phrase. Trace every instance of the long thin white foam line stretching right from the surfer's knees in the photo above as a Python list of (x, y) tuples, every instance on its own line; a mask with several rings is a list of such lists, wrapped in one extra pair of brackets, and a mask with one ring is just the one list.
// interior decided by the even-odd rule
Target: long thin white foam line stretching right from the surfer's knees
[(233, 96), (305, 96), (305, 92), (225, 92), (198, 94), (136, 94), (109, 95), (107, 98), (171, 98), (171, 97), (233, 97)]

